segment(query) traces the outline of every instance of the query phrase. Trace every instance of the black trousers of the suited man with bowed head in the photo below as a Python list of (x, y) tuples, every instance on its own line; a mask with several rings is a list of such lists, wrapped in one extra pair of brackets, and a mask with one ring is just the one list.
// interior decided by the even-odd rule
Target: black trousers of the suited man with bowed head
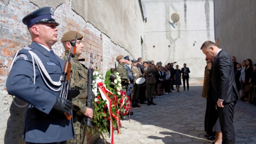
[(234, 106), (236, 101), (222, 103), (223, 108), (217, 107), (220, 118), (221, 132), (223, 135), (222, 143), (235, 143), (235, 129), (233, 125)]

